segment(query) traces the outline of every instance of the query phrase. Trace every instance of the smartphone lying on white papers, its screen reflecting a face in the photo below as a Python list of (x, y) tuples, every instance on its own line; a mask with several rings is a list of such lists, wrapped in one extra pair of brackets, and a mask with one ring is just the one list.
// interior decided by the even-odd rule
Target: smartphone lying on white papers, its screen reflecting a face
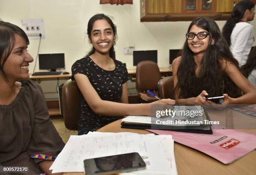
[(86, 175), (111, 175), (143, 170), (145, 168), (146, 163), (138, 153), (119, 154), (84, 160)]

